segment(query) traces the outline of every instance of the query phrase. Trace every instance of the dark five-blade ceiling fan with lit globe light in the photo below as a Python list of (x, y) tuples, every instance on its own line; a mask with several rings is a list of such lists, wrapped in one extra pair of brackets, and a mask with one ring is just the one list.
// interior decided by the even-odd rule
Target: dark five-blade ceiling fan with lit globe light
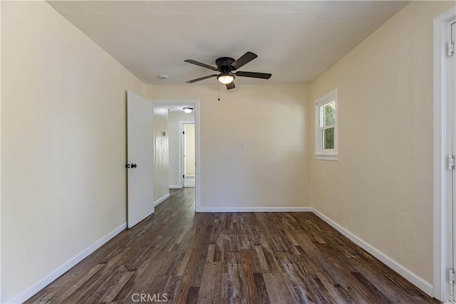
[(234, 70), (241, 68), (244, 64), (249, 63), (250, 61), (254, 60), (257, 57), (258, 57), (257, 54), (254, 54), (252, 52), (245, 53), (237, 61), (235, 61), (233, 58), (229, 58), (229, 57), (220, 57), (220, 58), (217, 58), (217, 60), (215, 61), (217, 68), (215, 68), (212, 65), (207, 65), (205, 63), (200, 63), (198, 61), (194, 61), (192, 59), (187, 59), (187, 60), (185, 60), (185, 62), (187, 62), (187, 63), (199, 65), (199, 66), (202, 66), (203, 68), (209, 68), (211, 70), (217, 70), (220, 73), (218, 75), (212, 74), (212, 75), (204, 76), (202, 78), (188, 80), (188, 81), (186, 81), (186, 83), (196, 83), (199, 80), (217, 77), (217, 80), (219, 80), (220, 83), (227, 85), (227, 89), (231, 90), (231, 89), (236, 88), (234, 86), (234, 78), (236, 76), (250, 77), (250, 78), (262, 78), (262, 79), (271, 78), (271, 74), (269, 74), (269, 73), (242, 72), (242, 71), (238, 71), (236, 73), (233, 72)]

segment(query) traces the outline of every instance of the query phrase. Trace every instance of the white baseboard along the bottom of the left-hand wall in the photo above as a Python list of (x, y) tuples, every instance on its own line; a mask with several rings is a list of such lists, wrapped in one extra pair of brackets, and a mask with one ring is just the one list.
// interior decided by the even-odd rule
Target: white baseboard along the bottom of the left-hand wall
[(38, 293), (41, 289), (45, 288), (47, 285), (52, 283), (56, 278), (59, 276), (63, 275), (63, 273), (66, 273), (66, 271), (70, 270), (73, 266), (75, 266), (77, 263), (81, 262), (84, 258), (86, 258), (90, 253), (93, 253), (93, 251), (97, 250), (103, 244), (108, 242), (110, 239), (113, 239), (114, 236), (117, 236), (120, 234), (120, 232), (124, 231), (127, 228), (127, 223), (123, 223), (122, 225), (118, 226), (116, 229), (113, 231), (110, 231), (110, 233), (106, 234), (103, 236), (101, 239), (93, 243), (92, 245), (88, 246), (88, 248), (84, 249), (80, 253), (78, 253), (76, 256), (71, 258), (69, 261), (66, 261), (66, 263), (63, 263), (63, 265), (59, 266), (55, 271), (52, 271), (49, 273), (47, 276), (42, 278), (40, 281), (34, 283), (31, 285), (29, 288), (24, 290), (23, 292), (19, 293), (19, 295), (16, 295), (14, 298), (11, 298), (10, 300), (6, 301), (6, 303), (24, 303), (28, 298), (31, 298), (33, 295)]

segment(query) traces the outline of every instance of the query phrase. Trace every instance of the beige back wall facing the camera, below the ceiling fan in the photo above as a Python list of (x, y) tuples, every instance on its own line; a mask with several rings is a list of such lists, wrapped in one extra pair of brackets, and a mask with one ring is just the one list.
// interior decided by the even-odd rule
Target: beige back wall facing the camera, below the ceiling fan
[(147, 98), (200, 100), (202, 207), (310, 206), (306, 85), (238, 85), (220, 101), (217, 85), (147, 90)]

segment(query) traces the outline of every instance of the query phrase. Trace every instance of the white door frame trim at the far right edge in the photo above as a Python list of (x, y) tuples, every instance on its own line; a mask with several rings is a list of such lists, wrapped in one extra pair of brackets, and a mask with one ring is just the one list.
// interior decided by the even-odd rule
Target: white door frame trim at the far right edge
[[(447, 96), (447, 90), (451, 84), (446, 83), (447, 63), (450, 60), (445, 56), (447, 46), (448, 25), (456, 20), (456, 6), (445, 11), (433, 21), (433, 48), (434, 48), (434, 98), (433, 98), (433, 118), (434, 118), (434, 156), (433, 156), (433, 296), (437, 300), (444, 302), (450, 300), (448, 292), (449, 285), (445, 282), (446, 270), (451, 268), (449, 265), (449, 252), (452, 254), (452, 244), (448, 244), (448, 234), (452, 222), (445, 217), (452, 202), (445, 199), (451, 189), (447, 189), (448, 172), (445, 167), (448, 145), (448, 117), (446, 109), (451, 105), (451, 100)], [(455, 55), (454, 55), (455, 56)], [(454, 85), (454, 84), (453, 84)], [(451, 209), (450, 209), (451, 210)], [(451, 263), (452, 259), (450, 259)]]

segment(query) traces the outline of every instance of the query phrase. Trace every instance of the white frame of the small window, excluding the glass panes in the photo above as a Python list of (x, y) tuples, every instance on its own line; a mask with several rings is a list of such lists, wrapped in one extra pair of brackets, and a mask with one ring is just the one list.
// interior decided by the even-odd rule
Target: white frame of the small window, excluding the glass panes
[[(334, 149), (321, 149), (321, 142), (323, 140), (321, 130), (325, 127), (321, 127), (321, 114), (320, 109), (332, 103), (334, 101), (335, 110), (336, 110), (336, 121), (334, 122)], [(324, 95), (321, 98), (318, 98), (315, 101), (315, 159), (323, 160), (338, 160), (338, 110), (337, 110), (337, 89), (331, 91), (330, 93)]]

